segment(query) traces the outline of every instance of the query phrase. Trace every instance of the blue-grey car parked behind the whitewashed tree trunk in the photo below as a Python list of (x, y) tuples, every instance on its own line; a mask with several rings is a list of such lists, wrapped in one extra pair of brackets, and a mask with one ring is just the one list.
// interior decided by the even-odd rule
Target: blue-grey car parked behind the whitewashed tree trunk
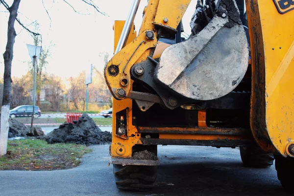
[[(17, 106), (16, 108), (13, 108), (10, 110), (9, 116), (11, 118), (15, 117), (25, 117), (25, 116), (31, 116), (33, 113), (33, 106), (32, 105), (20, 105)], [(41, 116), (41, 110), (39, 106), (35, 106), (35, 111), (34, 111), (34, 117), (37, 118)]]

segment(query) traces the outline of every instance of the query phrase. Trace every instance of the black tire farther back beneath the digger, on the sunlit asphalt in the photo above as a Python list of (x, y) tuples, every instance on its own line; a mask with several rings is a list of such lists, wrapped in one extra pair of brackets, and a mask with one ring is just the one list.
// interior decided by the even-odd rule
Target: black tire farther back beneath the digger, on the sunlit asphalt
[(250, 168), (270, 168), (273, 164), (273, 153), (266, 153), (260, 147), (240, 147), (243, 165)]

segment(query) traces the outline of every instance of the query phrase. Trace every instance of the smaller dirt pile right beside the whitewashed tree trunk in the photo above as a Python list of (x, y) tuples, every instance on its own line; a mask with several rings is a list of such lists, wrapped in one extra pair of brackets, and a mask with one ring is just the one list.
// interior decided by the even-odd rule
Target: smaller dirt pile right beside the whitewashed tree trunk
[(29, 132), (28, 126), (14, 119), (9, 119), (8, 122), (9, 122), (8, 138), (26, 137), (26, 133)]

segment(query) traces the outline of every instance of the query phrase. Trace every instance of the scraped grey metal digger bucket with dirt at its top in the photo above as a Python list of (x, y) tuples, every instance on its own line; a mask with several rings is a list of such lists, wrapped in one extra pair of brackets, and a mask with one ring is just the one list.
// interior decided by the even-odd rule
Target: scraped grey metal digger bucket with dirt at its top
[[(216, 99), (233, 91), (245, 75), (249, 58), (239, 16), (234, 0), (197, 7), (194, 29), (199, 32), (164, 50), (155, 72), (159, 82), (196, 100)], [(208, 25), (199, 30), (207, 19)]]

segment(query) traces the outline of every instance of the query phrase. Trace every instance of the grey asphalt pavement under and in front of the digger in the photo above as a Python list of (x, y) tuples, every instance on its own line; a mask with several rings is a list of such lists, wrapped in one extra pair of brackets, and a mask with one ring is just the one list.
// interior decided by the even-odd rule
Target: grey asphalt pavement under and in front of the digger
[(161, 165), (153, 191), (115, 187), (108, 145), (93, 146), (82, 165), (63, 171), (0, 171), (1, 196), (290, 196), (269, 169), (244, 168), (239, 150), (159, 146)]

